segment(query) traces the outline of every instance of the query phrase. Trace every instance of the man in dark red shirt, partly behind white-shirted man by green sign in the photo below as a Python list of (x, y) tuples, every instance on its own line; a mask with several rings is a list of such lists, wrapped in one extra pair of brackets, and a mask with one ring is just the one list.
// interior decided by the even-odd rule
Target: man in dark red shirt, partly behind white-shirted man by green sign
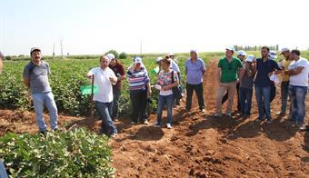
[(125, 79), (125, 68), (123, 64), (118, 63), (117, 59), (115, 58), (115, 54), (106, 54), (106, 56), (111, 60), (109, 63), (109, 68), (111, 68), (115, 75), (118, 78), (117, 84), (113, 85), (113, 112), (112, 112), (112, 119), (113, 121), (118, 120), (119, 118), (119, 99), (121, 95), (121, 81)]

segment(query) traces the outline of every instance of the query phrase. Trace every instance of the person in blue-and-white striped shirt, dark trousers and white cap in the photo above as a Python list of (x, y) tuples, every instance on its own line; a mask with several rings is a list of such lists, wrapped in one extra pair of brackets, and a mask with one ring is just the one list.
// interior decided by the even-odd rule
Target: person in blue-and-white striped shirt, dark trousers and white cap
[(135, 57), (133, 64), (128, 68), (126, 76), (129, 81), (130, 98), (133, 107), (131, 124), (137, 124), (138, 122), (149, 124), (145, 113), (147, 97), (151, 94), (151, 87), (141, 57)]

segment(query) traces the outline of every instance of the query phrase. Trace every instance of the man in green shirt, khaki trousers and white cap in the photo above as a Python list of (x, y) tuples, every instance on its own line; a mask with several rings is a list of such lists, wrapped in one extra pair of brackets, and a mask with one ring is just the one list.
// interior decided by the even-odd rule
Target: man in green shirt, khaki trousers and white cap
[(234, 47), (226, 47), (225, 57), (220, 59), (217, 69), (217, 79), (219, 83), (218, 94), (216, 98), (216, 113), (214, 117), (222, 116), (222, 98), (224, 94), (228, 93), (228, 105), (226, 110), (226, 116), (232, 117), (232, 105), (234, 101), (235, 88), (238, 79), (244, 74), (244, 66), (242, 62), (233, 56)]

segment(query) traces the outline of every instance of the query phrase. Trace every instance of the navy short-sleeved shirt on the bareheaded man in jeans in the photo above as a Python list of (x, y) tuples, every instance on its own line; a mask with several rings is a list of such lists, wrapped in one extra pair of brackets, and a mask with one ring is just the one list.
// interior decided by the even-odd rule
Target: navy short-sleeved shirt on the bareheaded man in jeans
[(256, 59), (256, 76), (254, 80), (255, 86), (267, 87), (272, 84), (268, 74), (274, 72), (274, 70), (281, 70), (277, 62), (272, 59), (267, 59), (265, 62), (262, 58)]

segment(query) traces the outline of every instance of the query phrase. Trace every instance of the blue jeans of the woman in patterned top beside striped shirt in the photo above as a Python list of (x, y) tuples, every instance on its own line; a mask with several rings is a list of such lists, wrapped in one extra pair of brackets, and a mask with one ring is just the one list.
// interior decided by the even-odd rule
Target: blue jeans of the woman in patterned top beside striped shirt
[(159, 95), (158, 101), (158, 111), (157, 111), (157, 122), (161, 124), (162, 111), (164, 109), (164, 104), (167, 106), (167, 123), (172, 124), (173, 116), (173, 105), (174, 105), (174, 95)]

